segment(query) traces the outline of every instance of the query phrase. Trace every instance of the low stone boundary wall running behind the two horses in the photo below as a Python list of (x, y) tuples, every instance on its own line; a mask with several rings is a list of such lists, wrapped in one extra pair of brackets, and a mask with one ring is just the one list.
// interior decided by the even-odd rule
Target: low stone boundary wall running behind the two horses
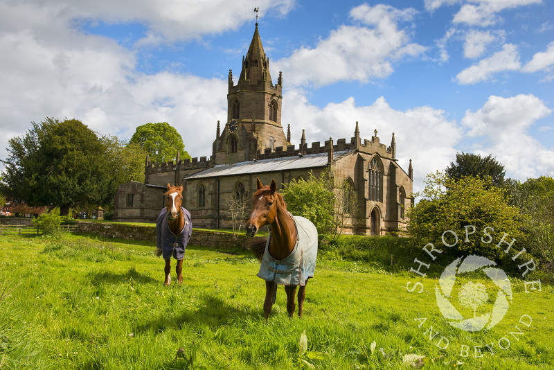
[[(144, 240), (156, 243), (156, 227), (145, 225), (129, 225), (108, 222), (87, 222), (77, 223), (79, 231), (82, 233), (91, 233), (105, 238), (120, 238), (132, 240)], [(233, 241), (233, 234), (222, 231), (206, 231), (193, 229), (193, 235), (190, 237), (189, 245), (199, 245), (202, 247), (215, 248), (235, 248), (240, 247), (248, 249), (248, 242), (251, 238), (240, 235), (238, 243)]]

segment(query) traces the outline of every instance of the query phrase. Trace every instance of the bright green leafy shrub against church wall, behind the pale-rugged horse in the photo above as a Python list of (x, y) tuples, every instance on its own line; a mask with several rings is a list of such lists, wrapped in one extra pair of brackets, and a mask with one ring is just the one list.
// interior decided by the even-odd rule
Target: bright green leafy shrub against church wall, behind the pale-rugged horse
[(312, 221), (319, 234), (328, 234), (334, 227), (334, 193), (331, 184), (328, 175), (316, 177), (310, 170), (307, 180), (292, 179), (281, 190), (287, 210)]

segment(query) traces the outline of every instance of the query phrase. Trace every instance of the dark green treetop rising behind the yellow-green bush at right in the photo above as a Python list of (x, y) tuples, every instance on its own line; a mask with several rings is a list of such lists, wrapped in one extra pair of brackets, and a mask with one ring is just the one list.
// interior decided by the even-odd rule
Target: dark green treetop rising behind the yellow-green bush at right
[(481, 177), (490, 176), (494, 186), (501, 186), (506, 170), (499, 161), (491, 155), (481, 157), (472, 153), (456, 153), (456, 163), (450, 162), (446, 168), (446, 175), (450, 179), (461, 179), (465, 176)]

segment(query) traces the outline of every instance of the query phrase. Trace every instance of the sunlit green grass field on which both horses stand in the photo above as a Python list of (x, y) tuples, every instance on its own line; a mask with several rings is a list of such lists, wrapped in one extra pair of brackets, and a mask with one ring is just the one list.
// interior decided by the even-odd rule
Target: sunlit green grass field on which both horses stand
[[(153, 249), (0, 236), (0, 369), (407, 369), (409, 354), (425, 356), (424, 369), (554, 369), (549, 285), (526, 294), (512, 280), (506, 317), (469, 333), (440, 314), (436, 279), (321, 258), (304, 317), (287, 317), (280, 288), (266, 322), (265, 284), (248, 253), (189, 246), (184, 284), (163, 287)], [(409, 292), (408, 281), (425, 290)], [(522, 334), (510, 335), (515, 326)]]

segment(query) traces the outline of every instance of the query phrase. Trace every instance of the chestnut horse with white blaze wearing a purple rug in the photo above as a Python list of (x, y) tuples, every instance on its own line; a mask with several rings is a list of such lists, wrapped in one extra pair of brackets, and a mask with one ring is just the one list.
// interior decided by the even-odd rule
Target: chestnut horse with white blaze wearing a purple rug
[(163, 208), (156, 222), (156, 245), (155, 254), (166, 260), (165, 285), (171, 283), (171, 256), (177, 260), (177, 279), (183, 282), (183, 258), (186, 245), (193, 231), (193, 224), (190, 222), (190, 213), (181, 206), (183, 201), (183, 186), (171, 186), (168, 184), (166, 207)]

